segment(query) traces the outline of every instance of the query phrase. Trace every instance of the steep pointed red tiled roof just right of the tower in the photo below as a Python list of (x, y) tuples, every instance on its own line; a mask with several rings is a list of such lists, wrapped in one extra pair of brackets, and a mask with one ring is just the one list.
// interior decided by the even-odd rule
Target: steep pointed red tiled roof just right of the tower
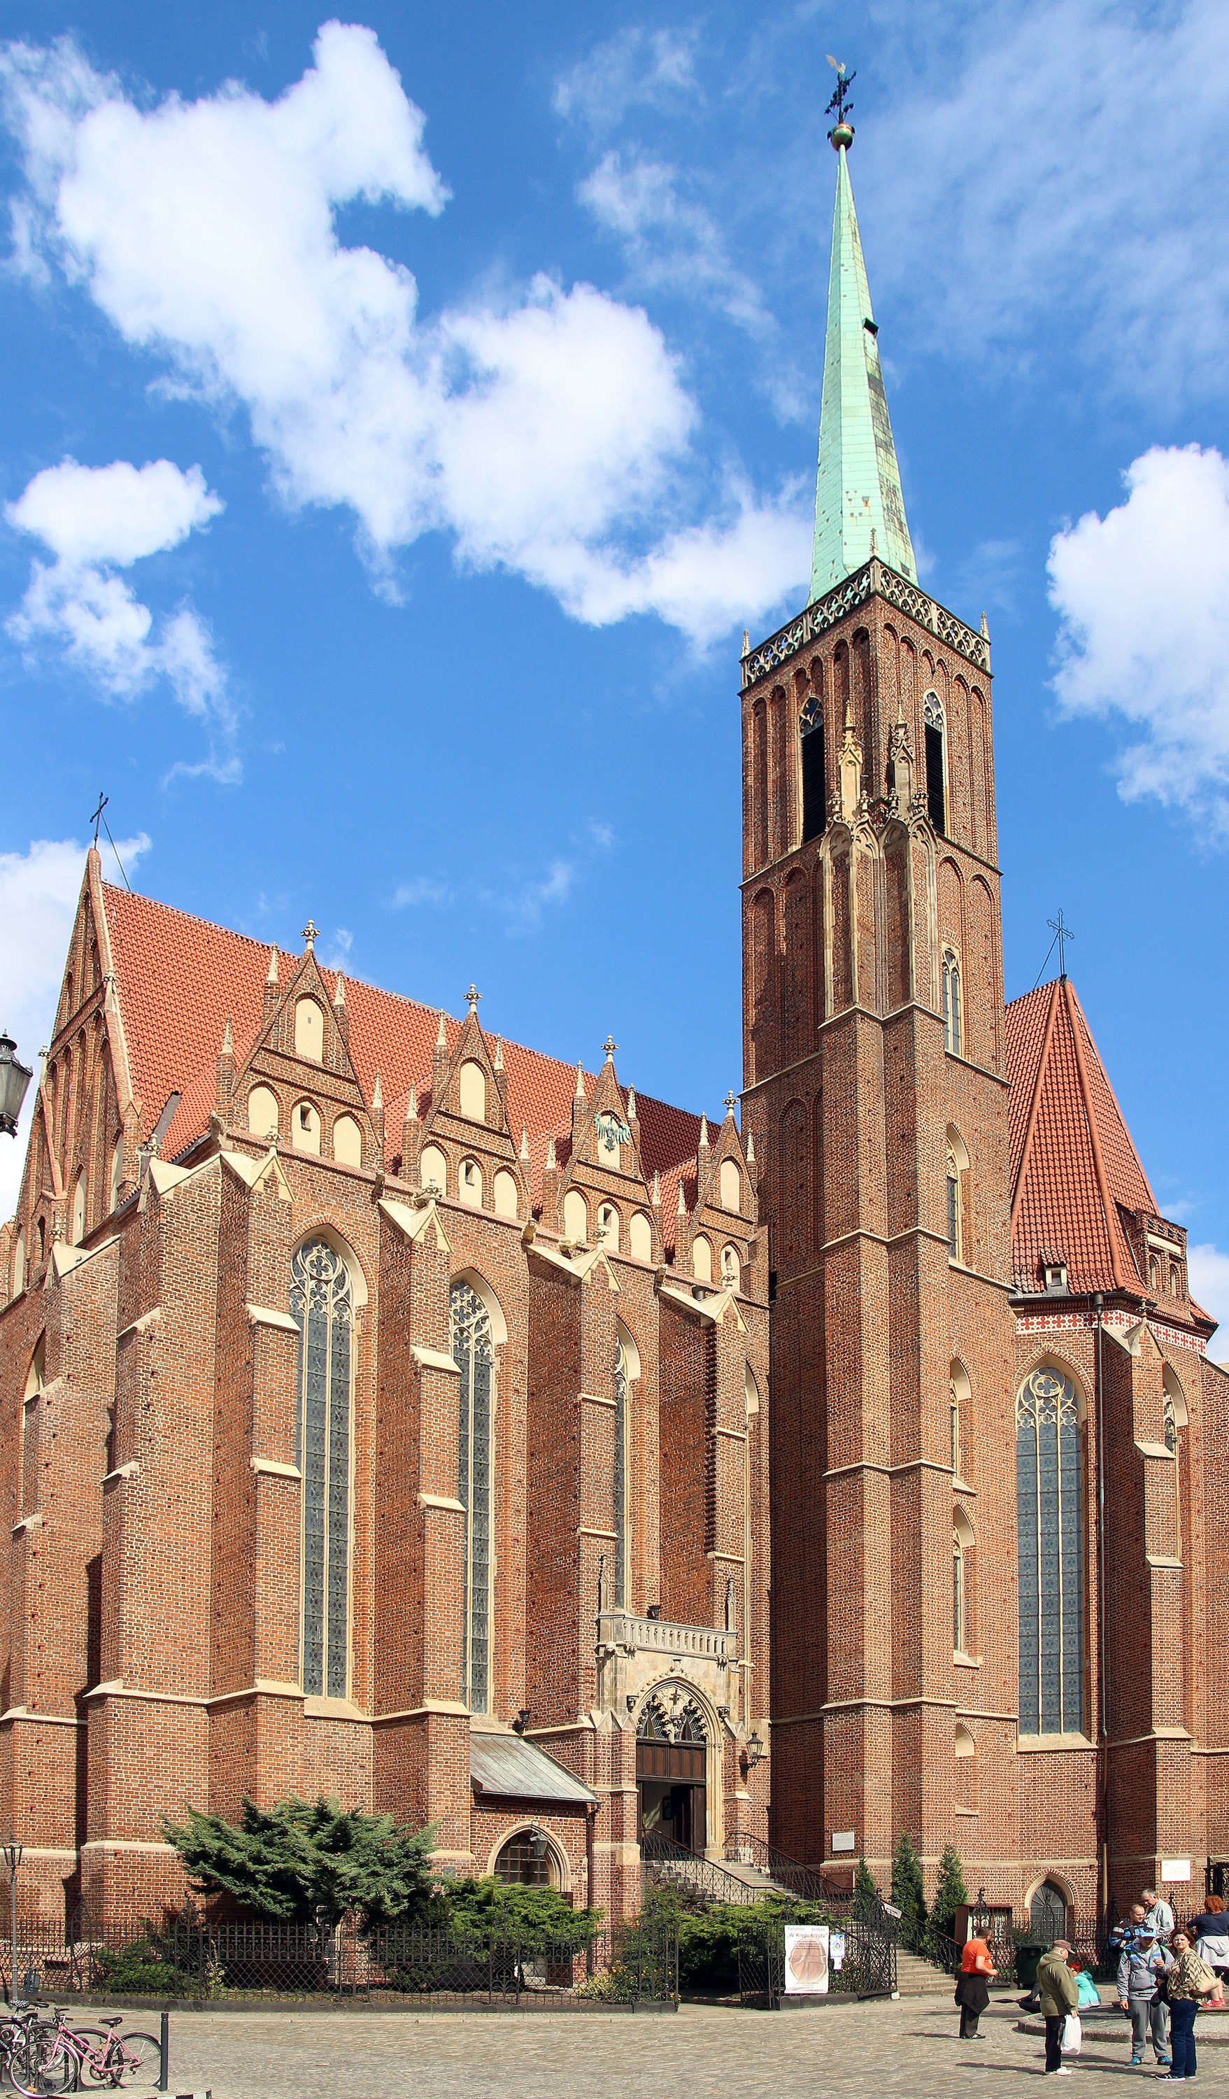
[(1118, 1205), (1158, 1205), (1068, 978), (1007, 1008), (1007, 1077), (1017, 1282), (1036, 1289), (1049, 1255), (1076, 1293), (1143, 1293)]

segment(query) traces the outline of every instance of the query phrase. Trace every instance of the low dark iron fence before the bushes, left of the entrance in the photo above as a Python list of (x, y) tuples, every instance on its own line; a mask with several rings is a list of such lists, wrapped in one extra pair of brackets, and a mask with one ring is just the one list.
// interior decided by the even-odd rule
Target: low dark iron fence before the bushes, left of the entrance
[[(0, 1939), (0, 1979), (13, 1958)], [(677, 2005), (677, 1931), (644, 1918), (545, 1937), (386, 1925), (206, 1923), (17, 1931), (17, 1984), (31, 2000), (317, 2002), (468, 2011), (585, 2011)]]

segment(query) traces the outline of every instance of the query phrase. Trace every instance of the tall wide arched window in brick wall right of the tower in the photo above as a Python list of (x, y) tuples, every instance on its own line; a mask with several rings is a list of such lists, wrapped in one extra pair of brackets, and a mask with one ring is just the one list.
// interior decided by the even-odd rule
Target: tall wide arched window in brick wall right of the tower
[(1059, 1371), (1015, 1402), (1019, 1732), (1084, 1732), (1084, 1509), (1076, 1387)]

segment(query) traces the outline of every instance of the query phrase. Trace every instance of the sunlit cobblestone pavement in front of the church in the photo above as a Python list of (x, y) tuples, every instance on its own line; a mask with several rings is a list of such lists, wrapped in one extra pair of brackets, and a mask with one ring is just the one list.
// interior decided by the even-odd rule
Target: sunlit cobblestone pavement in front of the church
[[(948, 1998), (822, 2011), (671, 2013), (174, 2013), (172, 2093), (214, 2099), (917, 2099), (1011, 2095), (1042, 2074), (1042, 2040), (992, 2007), (958, 2040)], [(1204, 2021), (1200, 2021), (1204, 2023)], [(1216, 2023), (1229, 2028), (1229, 2017)], [(1229, 2042), (1229, 2032), (1225, 2034)], [(1200, 2089), (1229, 2093), (1229, 2044), (1200, 2040)], [(1074, 2063), (1097, 2095), (1151, 2089), (1126, 2068), (1126, 2021)], [(1047, 2086), (1076, 2093), (1076, 2082)]]

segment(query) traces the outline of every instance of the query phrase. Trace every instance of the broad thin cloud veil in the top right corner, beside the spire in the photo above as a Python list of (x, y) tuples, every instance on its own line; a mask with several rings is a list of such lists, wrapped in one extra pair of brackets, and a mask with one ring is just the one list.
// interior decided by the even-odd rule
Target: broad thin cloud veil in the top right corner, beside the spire
[(1223, 393), (1223, 0), (956, 0), (893, 27), (908, 88), (866, 126), (858, 185), (912, 340), (1023, 357), (1044, 319), (1101, 393)]

